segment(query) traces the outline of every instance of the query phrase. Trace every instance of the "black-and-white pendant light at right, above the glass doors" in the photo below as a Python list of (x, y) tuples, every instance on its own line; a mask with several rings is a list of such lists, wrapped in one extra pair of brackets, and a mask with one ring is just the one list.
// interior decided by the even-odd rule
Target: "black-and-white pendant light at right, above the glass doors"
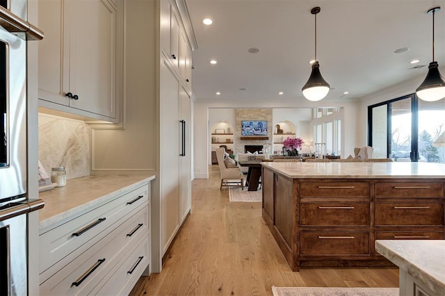
[(428, 66), (428, 74), (425, 80), (416, 89), (417, 97), (423, 101), (438, 101), (445, 97), (445, 81), (439, 72), (439, 64), (434, 60), (434, 15), (440, 11), (440, 7), (428, 10), (432, 15), (432, 62)]

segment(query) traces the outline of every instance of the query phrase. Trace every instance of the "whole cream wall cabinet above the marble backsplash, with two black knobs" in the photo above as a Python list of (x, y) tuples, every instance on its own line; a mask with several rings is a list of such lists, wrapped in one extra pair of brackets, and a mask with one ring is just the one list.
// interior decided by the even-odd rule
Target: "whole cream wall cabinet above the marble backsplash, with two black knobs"
[(118, 122), (120, 10), (120, 0), (39, 1), (39, 106)]

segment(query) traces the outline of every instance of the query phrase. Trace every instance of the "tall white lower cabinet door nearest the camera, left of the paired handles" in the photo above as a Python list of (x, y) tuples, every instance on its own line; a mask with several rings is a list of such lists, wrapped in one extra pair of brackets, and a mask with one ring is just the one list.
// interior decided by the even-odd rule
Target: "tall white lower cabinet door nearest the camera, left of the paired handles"
[(179, 229), (179, 83), (161, 65), (161, 242), (162, 254)]

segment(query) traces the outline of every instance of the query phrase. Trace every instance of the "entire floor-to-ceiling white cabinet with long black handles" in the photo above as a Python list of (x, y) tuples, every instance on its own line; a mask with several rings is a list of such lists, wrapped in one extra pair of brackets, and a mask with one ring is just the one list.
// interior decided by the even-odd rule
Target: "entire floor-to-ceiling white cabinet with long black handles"
[(191, 46), (175, 1), (161, 0), (160, 195), (164, 255), (191, 211)]

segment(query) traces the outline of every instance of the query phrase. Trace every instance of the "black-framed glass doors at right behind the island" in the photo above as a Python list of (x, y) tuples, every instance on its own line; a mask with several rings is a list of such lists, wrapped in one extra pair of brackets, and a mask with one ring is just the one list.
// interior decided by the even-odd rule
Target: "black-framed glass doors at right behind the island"
[(426, 102), (415, 94), (368, 107), (368, 144), (373, 158), (445, 163), (435, 141), (445, 131), (445, 100)]

